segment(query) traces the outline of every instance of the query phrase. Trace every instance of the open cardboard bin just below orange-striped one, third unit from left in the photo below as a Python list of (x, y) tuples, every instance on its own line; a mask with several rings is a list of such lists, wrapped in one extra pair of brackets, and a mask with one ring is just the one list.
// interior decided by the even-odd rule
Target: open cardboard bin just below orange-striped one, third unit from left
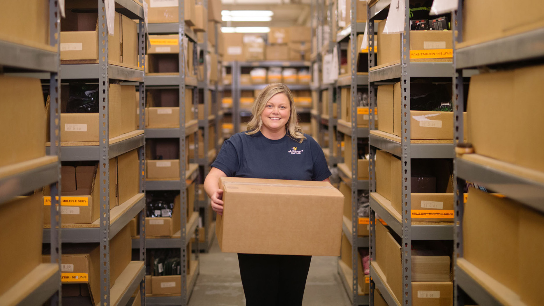
[[(180, 91), (177, 89), (147, 90), (146, 128), (180, 127)], [(194, 119), (193, 91), (185, 91), (185, 122)]]

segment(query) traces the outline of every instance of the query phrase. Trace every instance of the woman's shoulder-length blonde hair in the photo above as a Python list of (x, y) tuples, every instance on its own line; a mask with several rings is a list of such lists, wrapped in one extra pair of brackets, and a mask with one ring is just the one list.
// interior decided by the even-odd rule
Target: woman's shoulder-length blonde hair
[(287, 135), (289, 138), (292, 138), (299, 143), (306, 139), (304, 133), (302, 133), (302, 128), (299, 126), (299, 119), (296, 115), (295, 103), (293, 101), (293, 95), (287, 85), (282, 83), (272, 83), (266, 86), (255, 98), (255, 103), (251, 108), (251, 121), (248, 123), (248, 132), (245, 134), (253, 135), (258, 133), (263, 126), (263, 121), (261, 120), (261, 115), (263, 114), (266, 104), (272, 97), (278, 93), (283, 93), (289, 99), (289, 107), (291, 113), (289, 115), (289, 120), (285, 124), (285, 129), (287, 130)]

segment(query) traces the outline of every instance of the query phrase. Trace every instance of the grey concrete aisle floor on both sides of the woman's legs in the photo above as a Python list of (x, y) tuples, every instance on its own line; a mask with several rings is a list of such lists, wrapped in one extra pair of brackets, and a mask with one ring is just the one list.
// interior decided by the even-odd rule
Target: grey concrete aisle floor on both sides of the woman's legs
[[(221, 253), (217, 239), (210, 251), (200, 254), (200, 275), (189, 306), (243, 306), (244, 289), (238, 257)], [(350, 306), (337, 272), (337, 257), (312, 257), (304, 291), (304, 306)]]

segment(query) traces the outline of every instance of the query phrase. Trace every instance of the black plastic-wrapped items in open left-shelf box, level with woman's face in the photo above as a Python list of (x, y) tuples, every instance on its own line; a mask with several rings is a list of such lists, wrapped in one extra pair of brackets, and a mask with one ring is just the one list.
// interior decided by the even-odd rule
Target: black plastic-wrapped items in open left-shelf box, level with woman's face
[(98, 113), (98, 84), (70, 84), (65, 113)]

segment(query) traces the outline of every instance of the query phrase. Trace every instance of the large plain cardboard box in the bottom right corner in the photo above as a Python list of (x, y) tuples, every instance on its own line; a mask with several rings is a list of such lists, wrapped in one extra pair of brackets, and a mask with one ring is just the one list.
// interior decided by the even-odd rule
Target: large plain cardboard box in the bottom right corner
[[(495, 241), (497, 231), (502, 233), (502, 243)], [(544, 273), (538, 255), (544, 249), (543, 233), (542, 213), (508, 198), (477, 189), (468, 191), (463, 214), (463, 257), (481, 270), (480, 274), (514, 291), (528, 306), (539, 305), (544, 298), (538, 282)], [(502, 245), (514, 251), (497, 256), (495, 252), (500, 252)], [(506, 264), (511, 270), (500, 268)]]

